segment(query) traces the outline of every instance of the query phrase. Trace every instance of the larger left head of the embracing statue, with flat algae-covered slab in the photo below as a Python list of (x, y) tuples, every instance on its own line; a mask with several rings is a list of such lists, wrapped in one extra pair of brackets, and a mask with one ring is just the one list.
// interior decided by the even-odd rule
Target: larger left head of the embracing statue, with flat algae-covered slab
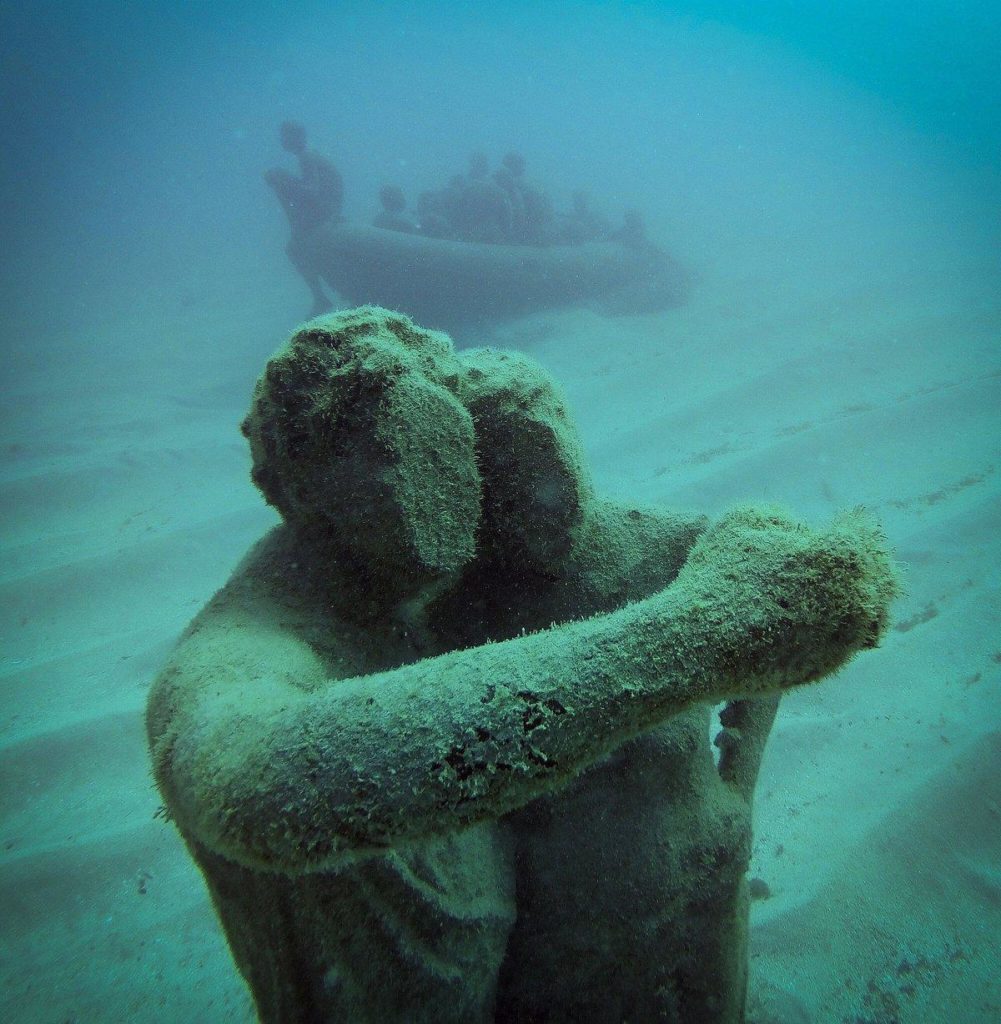
[(243, 425), (254, 482), (287, 522), (404, 589), (458, 572), (481, 492), (458, 377), (448, 339), (404, 317), (311, 321), (255, 388)]

